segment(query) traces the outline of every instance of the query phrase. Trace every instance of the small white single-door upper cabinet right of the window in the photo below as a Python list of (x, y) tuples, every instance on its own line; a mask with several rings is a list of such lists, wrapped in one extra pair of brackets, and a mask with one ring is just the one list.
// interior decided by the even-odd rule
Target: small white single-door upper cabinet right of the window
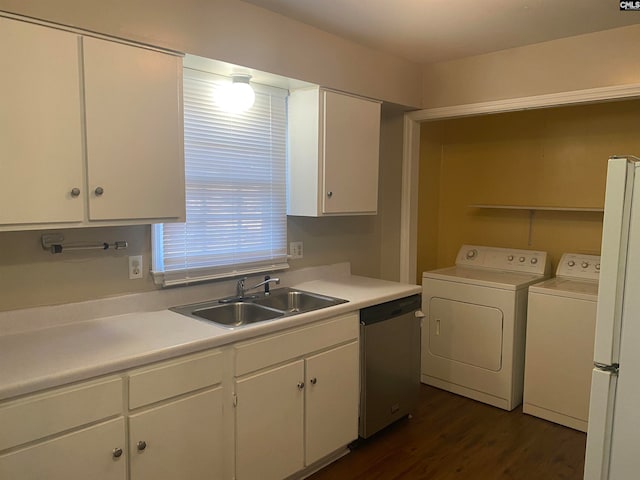
[(322, 88), (295, 90), (288, 122), (287, 213), (375, 214), (380, 103)]

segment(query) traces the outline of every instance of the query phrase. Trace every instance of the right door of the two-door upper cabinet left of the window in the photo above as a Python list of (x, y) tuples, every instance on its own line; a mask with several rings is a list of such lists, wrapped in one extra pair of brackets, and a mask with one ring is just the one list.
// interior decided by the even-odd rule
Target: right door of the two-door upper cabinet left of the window
[(83, 50), (89, 219), (184, 218), (181, 58), (96, 38)]

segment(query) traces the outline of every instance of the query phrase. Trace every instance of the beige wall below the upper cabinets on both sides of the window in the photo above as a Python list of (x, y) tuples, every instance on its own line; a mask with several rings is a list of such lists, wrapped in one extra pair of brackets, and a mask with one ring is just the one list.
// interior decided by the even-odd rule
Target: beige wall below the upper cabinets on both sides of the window
[[(377, 217), (290, 217), (290, 241), (304, 242), (304, 258), (292, 269), (351, 262), (359, 275), (380, 276), (380, 233)], [(0, 311), (57, 305), (126, 293), (152, 291), (149, 275), (150, 227), (56, 230), (65, 242), (126, 240), (127, 250), (67, 252), (52, 255), (40, 246), (42, 231), (0, 232)], [(144, 256), (145, 277), (128, 278), (128, 256)]]

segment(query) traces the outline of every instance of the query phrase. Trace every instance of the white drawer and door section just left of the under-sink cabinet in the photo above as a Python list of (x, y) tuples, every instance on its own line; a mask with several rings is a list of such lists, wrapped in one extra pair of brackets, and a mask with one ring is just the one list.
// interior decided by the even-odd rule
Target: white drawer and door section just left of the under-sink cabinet
[(223, 362), (215, 350), (128, 375), (131, 480), (222, 478)]

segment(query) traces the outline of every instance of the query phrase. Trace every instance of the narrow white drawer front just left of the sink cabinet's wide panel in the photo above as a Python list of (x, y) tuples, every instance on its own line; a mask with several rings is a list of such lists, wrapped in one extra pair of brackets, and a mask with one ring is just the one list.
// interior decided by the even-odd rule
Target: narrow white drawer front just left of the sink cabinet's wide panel
[(170, 360), (129, 374), (129, 408), (176, 397), (222, 381), (222, 352)]

